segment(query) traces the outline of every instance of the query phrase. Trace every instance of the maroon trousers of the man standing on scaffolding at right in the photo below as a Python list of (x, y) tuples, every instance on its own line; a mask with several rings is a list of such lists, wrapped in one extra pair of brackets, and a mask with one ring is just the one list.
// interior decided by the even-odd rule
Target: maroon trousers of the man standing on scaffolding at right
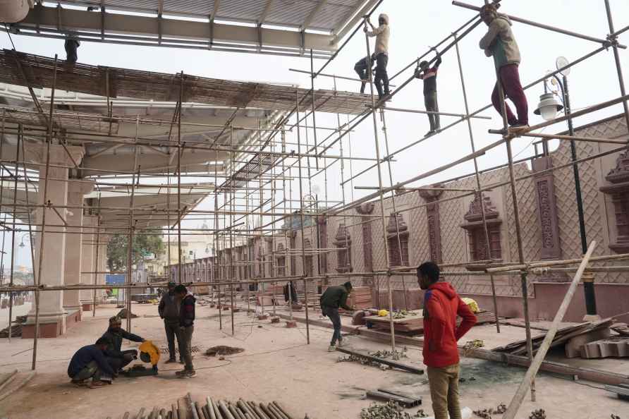
[[(526, 101), (526, 95), (524, 94), (524, 90), (522, 88), (522, 83), (520, 83), (518, 65), (508, 64), (506, 66), (502, 66), (498, 73), (500, 76), (500, 82), (502, 83), (505, 99), (511, 99), (511, 102), (515, 104), (515, 111), (518, 112), (518, 117), (516, 118), (515, 115), (513, 115), (509, 104), (505, 102), (507, 121), (509, 125), (513, 125), (515, 123), (528, 124), (529, 108)], [(502, 114), (498, 83), (496, 83), (496, 87), (494, 87), (494, 92), (491, 93), (491, 103), (494, 104), (496, 111), (498, 111), (499, 114)]]

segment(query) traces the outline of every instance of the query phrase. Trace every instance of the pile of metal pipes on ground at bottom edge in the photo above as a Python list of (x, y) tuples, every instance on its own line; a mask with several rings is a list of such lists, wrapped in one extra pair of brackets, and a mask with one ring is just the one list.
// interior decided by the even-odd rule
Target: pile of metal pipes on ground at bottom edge
[[(109, 416), (107, 419), (111, 419)], [(205, 398), (205, 404), (193, 401), (190, 393), (171, 408), (164, 409), (155, 406), (151, 411), (140, 408), (131, 415), (126, 412), (123, 419), (293, 419), (283, 406), (277, 401), (271, 403), (255, 403), (238, 399), (236, 402)]]

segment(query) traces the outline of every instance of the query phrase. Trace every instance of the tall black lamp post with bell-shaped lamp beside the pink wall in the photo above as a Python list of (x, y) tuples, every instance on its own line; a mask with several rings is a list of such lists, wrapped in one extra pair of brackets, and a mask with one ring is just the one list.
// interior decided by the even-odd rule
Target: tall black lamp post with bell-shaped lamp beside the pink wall
[[(563, 57), (559, 57), (557, 59), (556, 65), (557, 68), (561, 68), (566, 66), (566, 60)], [(570, 93), (568, 90), (568, 74), (570, 73), (570, 68), (566, 68), (561, 72), (563, 81), (560, 80), (556, 75), (553, 75), (553, 78), (556, 80), (557, 84), (561, 88), (561, 99), (563, 102), (564, 113), (566, 114), (568, 121), (568, 134), (573, 137), (575, 135), (575, 128), (573, 126), (572, 118), (570, 117)], [(546, 121), (550, 121), (554, 119), (557, 112), (561, 111), (562, 107), (558, 104), (553, 97), (552, 93), (548, 93), (546, 90), (546, 81), (544, 80), (544, 95), (540, 97), (539, 106), (535, 110), (535, 114), (542, 115), (542, 118)], [(570, 140), (570, 157), (572, 162), (577, 161), (577, 147), (574, 140)], [(581, 195), (581, 181), (579, 176), (579, 166), (578, 164), (573, 164), (573, 175), (575, 178), (575, 198), (577, 201), (577, 214), (579, 218), (579, 235), (581, 238), (581, 251), (582, 254), (585, 255), (587, 253), (587, 235), (585, 231), (585, 215), (583, 212), (583, 200)], [(597, 315), (597, 302), (596, 295), (594, 293), (594, 276), (593, 275), (584, 275), (583, 276), (583, 291), (585, 293), (585, 320), (595, 320), (598, 319)]]

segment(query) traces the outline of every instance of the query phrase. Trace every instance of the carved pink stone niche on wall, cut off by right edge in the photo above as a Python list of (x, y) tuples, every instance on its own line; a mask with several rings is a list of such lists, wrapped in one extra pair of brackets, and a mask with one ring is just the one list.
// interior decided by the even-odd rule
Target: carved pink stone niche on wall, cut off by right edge
[[(605, 176), (611, 183), (602, 186), (601, 192), (611, 196), (616, 221), (616, 240), (610, 240), (609, 248), (616, 253), (629, 252), (629, 151), (616, 159), (616, 167)], [(613, 226), (611, 226), (613, 228)]]

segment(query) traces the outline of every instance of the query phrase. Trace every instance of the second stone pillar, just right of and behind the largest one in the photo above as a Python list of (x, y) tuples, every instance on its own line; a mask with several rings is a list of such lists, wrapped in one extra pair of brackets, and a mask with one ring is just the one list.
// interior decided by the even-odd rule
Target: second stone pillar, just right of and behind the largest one
[[(94, 183), (90, 181), (68, 182), (68, 205), (83, 205), (83, 196), (90, 193), (94, 188)], [(66, 267), (65, 284), (75, 285), (81, 282), (81, 271), (91, 271), (92, 269), (81, 264), (83, 255), (83, 237), (78, 234), (83, 229), (74, 226), (83, 226), (83, 210), (70, 209), (67, 213), (66, 221), (70, 226), (66, 234)], [(86, 229), (84, 233), (90, 233), (92, 229)], [(86, 236), (87, 237), (87, 236)], [(63, 308), (68, 312), (68, 322), (80, 320), (81, 303), (79, 300), (80, 291), (63, 291)], [(76, 315), (75, 315), (76, 314)]]

